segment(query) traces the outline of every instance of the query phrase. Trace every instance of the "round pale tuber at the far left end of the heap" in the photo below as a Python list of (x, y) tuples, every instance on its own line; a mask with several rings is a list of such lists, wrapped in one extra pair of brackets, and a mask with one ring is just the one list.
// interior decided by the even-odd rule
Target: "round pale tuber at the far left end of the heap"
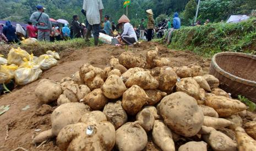
[(61, 85), (53, 80), (43, 79), (35, 89), (36, 97), (42, 103), (51, 103), (62, 94)]

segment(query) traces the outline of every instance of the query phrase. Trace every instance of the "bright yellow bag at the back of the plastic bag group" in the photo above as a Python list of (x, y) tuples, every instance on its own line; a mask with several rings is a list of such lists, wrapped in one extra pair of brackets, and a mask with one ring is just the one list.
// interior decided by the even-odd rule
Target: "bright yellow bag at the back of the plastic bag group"
[(20, 48), (17, 49), (10, 49), (8, 57), (7, 57), (7, 63), (9, 65), (15, 64), (20, 66), (21, 63), (24, 62), (23, 58), (25, 57), (27, 60), (29, 60), (29, 53), (26, 52), (25, 50), (22, 50)]

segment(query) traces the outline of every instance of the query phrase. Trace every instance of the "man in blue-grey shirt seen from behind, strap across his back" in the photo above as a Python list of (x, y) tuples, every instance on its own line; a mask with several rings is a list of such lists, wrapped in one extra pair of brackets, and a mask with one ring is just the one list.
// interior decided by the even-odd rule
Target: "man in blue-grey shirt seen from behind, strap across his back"
[(37, 39), (50, 42), (50, 31), (52, 30), (50, 18), (47, 14), (43, 13), (45, 8), (42, 5), (37, 5), (36, 9), (37, 11), (30, 16), (30, 21), (37, 26)]

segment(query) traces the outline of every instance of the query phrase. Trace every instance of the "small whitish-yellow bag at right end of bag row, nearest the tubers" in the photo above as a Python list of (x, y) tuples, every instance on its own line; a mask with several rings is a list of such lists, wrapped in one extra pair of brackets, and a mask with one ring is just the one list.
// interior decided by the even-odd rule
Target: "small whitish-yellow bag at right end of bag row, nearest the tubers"
[(56, 66), (57, 62), (58, 61), (54, 59), (52, 55), (41, 55), (38, 58), (37, 65), (39, 65), (42, 70), (45, 70)]

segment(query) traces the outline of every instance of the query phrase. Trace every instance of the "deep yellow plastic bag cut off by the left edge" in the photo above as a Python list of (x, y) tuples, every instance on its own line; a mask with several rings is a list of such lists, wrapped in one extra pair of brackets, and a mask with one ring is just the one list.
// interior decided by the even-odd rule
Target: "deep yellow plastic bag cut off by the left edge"
[(8, 83), (14, 78), (14, 72), (18, 69), (16, 65), (1, 65), (0, 66), (0, 83)]

